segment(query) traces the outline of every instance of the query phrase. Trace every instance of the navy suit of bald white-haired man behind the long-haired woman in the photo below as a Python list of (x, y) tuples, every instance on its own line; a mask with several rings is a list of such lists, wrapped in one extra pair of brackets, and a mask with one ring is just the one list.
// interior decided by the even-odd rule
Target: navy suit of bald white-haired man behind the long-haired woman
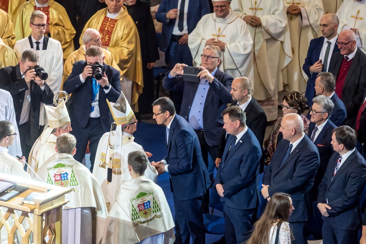
[(291, 195), (295, 210), (289, 222), (296, 239), (294, 243), (307, 243), (304, 234), (305, 222), (313, 216), (311, 188), (320, 164), (319, 153), (317, 147), (305, 135), (281, 165), (289, 145), (290, 141), (284, 139), (277, 145), (272, 160), (264, 171), (263, 184), (269, 185), (269, 196), (276, 192)]

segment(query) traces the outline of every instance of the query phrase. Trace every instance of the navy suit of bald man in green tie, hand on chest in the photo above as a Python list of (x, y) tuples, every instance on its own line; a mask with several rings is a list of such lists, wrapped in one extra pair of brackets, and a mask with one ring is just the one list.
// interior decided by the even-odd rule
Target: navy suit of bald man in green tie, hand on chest
[[(317, 37), (310, 41), (309, 49), (307, 49), (307, 56), (305, 58), (305, 63), (302, 66), (302, 69), (306, 73), (309, 79), (307, 80), (305, 97), (307, 98), (307, 106), (311, 107), (313, 105), (313, 98), (315, 95), (315, 80), (317, 79), (318, 73), (310, 73), (310, 66), (316, 63), (319, 60), (319, 56), (321, 52), (326, 51), (323, 49), (324, 37)], [(332, 54), (335, 52), (339, 52), (338, 45), (334, 45), (333, 52), (329, 54), (328, 57), (328, 67), (332, 57)], [(324, 60), (322, 60), (324, 62)]]

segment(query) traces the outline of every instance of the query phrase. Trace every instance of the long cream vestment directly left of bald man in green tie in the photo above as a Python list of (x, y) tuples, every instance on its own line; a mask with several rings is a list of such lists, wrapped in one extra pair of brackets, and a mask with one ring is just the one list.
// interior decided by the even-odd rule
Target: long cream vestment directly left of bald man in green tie
[(306, 90), (306, 73), (302, 64), (306, 58), (310, 41), (321, 36), (320, 18), (324, 15), (322, 0), (290, 0), (284, 1), (285, 10), (291, 4), (296, 4), (301, 9), (301, 14), (287, 14), (290, 29), (292, 61), (283, 70), (283, 83), (287, 92)]

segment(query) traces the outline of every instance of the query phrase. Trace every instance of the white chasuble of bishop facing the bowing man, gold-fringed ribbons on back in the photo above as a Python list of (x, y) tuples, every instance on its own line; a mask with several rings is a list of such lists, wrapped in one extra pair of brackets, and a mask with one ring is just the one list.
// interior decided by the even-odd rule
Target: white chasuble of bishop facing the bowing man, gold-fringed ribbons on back
[[(131, 134), (122, 132), (121, 125), (117, 125), (116, 130), (104, 133), (100, 138), (93, 175), (102, 189), (108, 211), (115, 203), (121, 183), (131, 180), (131, 175), (128, 173), (127, 159), (128, 154), (132, 151), (145, 153), (141, 145), (134, 142), (134, 137)], [(112, 168), (111, 182), (107, 181), (108, 167)], [(157, 182), (158, 173), (150, 162), (147, 163), (145, 176)]]

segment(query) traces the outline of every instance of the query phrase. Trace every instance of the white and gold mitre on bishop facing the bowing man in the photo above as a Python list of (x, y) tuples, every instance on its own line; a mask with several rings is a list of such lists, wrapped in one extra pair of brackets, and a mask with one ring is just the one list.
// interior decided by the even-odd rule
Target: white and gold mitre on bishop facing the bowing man
[(108, 99), (107, 103), (117, 125), (126, 125), (134, 118), (134, 111), (132, 111), (132, 108), (130, 104), (128, 104), (123, 92), (121, 92), (121, 95), (115, 103), (108, 101)]

